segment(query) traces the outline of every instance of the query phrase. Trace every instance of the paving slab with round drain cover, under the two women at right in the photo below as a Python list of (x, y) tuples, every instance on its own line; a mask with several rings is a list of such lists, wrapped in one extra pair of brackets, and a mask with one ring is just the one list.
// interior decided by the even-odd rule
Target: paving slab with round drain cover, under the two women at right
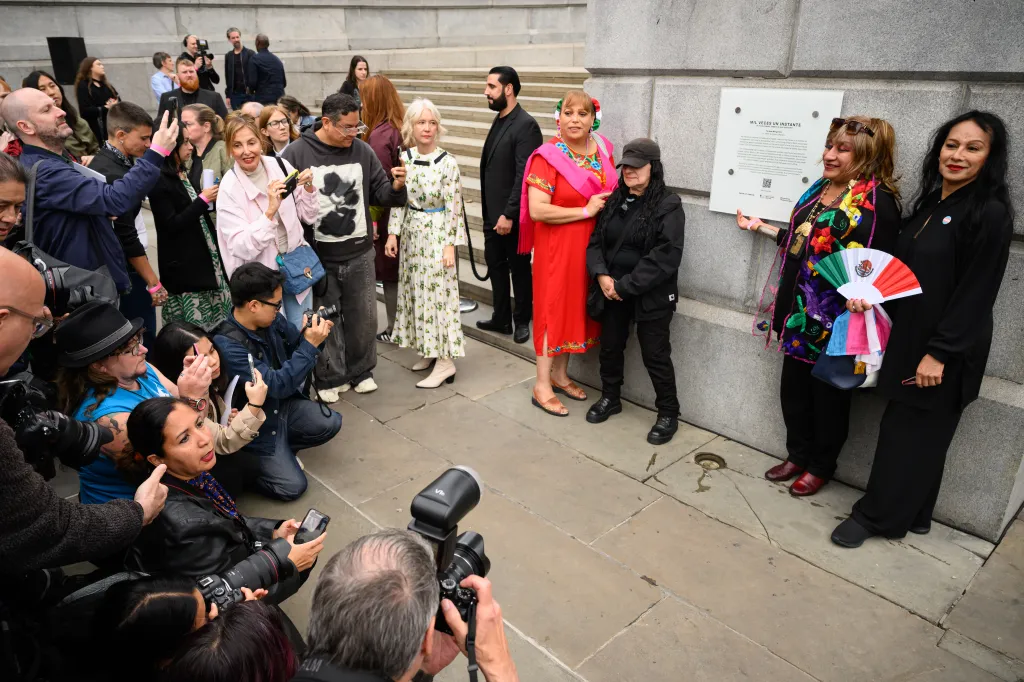
[(691, 453), (648, 483), (932, 623), (939, 623), (981, 568), (977, 555), (932, 537), (942, 535), (940, 524), (905, 542), (872, 539), (856, 550), (838, 547), (829, 536), (860, 491), (833, 481), (811, 498), (794, 498), (785, 484), (764, 478), (775, 458), (727, 438), (699, 450), (719, 455), (727, 468), (706, 471)]

